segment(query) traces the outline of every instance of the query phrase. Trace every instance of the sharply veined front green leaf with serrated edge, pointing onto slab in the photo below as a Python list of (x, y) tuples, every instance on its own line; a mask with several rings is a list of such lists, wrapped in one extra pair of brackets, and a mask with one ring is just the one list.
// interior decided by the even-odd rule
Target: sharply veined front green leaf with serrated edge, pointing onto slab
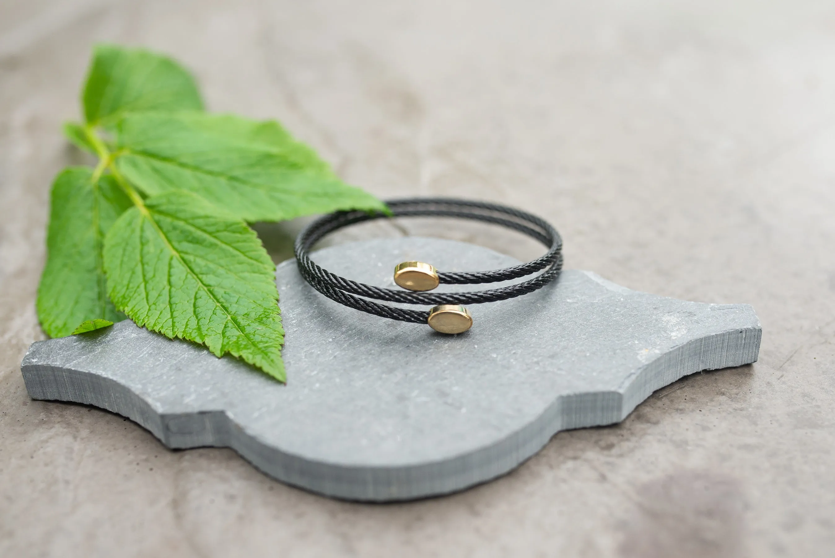
[(139, 326), (285, 381), (276, 267), (255, 231), (188, 192), (145, 203), (125, 211), (104, 241), (116, 306)]

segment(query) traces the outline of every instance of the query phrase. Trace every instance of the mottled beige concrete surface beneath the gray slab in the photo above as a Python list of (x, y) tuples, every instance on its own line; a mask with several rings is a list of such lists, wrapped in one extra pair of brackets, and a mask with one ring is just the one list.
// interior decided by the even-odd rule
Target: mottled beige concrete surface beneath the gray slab
[[(19, 363), (43, 338), (48, 187), (83, 162), (59, 125), (103, 40), (180, 58), (210, 109), (281, 119), (377, 195), (519, 205), (559, 228), (569, 267), (751, 303), (760, 361), (398, 505), (327, 500), (230, 450), (173, 452), (98, 408), (31, 401)], [(297, 225), (258, 226), (276, 260)], [(835, 555), (831, 0), (3, 0), (0, 226), (0, 555)]]

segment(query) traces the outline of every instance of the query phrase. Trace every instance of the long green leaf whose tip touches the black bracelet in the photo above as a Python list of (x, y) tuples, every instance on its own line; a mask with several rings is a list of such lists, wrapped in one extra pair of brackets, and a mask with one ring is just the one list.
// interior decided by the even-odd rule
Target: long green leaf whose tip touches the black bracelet
[(202, 113), (129, 114), (116, 129), (116, 165), (148, 195), (189, 190), (244, 221), (336, 210), (387, 211), (339, 180), (276, 122)]

